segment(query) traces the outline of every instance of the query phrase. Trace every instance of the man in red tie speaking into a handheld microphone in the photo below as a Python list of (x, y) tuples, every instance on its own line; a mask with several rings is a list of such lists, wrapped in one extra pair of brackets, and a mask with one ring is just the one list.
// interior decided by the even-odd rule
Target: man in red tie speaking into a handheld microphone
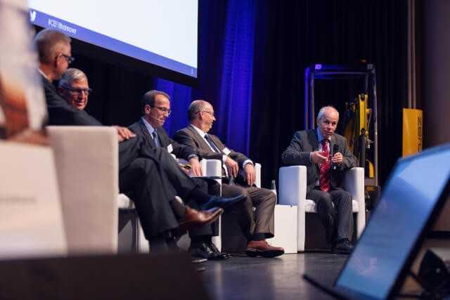
[(342, 189), (342, 180), (345, 171), (357, 166), (357, 159), (347, 140), (335, 133), (338, 121), (338, 110), (322, 107), (317, 129), (297, 131), (282, 160), (286, 165), (307, 167), (307, 198), (316, 202), (333, 251), (348, 254), (352, 251), (352, 195)]

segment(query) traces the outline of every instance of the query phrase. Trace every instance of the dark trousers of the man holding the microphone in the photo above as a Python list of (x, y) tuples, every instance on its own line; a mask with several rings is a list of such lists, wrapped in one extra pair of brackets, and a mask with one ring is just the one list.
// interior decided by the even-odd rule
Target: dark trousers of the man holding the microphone
[(350, 193), (341, 189), (330, 192), (314, 189), (307, 193), (307, 199), (316, 203), (328, 242), (333, 243), (344, 238), (352, 240), (353, 214)]

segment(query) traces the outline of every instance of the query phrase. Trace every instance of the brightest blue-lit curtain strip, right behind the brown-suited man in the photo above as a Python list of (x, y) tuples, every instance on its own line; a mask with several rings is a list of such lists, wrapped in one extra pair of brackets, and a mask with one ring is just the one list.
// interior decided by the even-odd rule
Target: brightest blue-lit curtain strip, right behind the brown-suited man
[(250, 151), (255, 1), (230, 0), (226, 15), (219, 118), (216, 126), (229, 147)]

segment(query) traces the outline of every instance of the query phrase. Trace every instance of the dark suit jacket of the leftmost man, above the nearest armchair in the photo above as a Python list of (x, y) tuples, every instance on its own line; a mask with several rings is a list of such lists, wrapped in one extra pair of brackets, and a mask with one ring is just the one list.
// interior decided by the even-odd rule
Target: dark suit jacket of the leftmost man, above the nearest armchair
[(49, 113), (49, 125), (84, 125), (101, 126), (101, 122), (91, 117), (84, 110), (77, 110), (70, 106), (61, 96), (59, 96), (56, 87), (41, 76), (44, 85), (45, 100), (47, 111)]

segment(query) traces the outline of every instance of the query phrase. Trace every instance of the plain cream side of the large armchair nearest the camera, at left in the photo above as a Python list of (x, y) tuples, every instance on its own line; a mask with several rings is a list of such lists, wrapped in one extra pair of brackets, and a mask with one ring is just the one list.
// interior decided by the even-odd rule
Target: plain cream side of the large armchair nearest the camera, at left
[(69, 253), (117, 252), (117, 131), (49, 126)]

